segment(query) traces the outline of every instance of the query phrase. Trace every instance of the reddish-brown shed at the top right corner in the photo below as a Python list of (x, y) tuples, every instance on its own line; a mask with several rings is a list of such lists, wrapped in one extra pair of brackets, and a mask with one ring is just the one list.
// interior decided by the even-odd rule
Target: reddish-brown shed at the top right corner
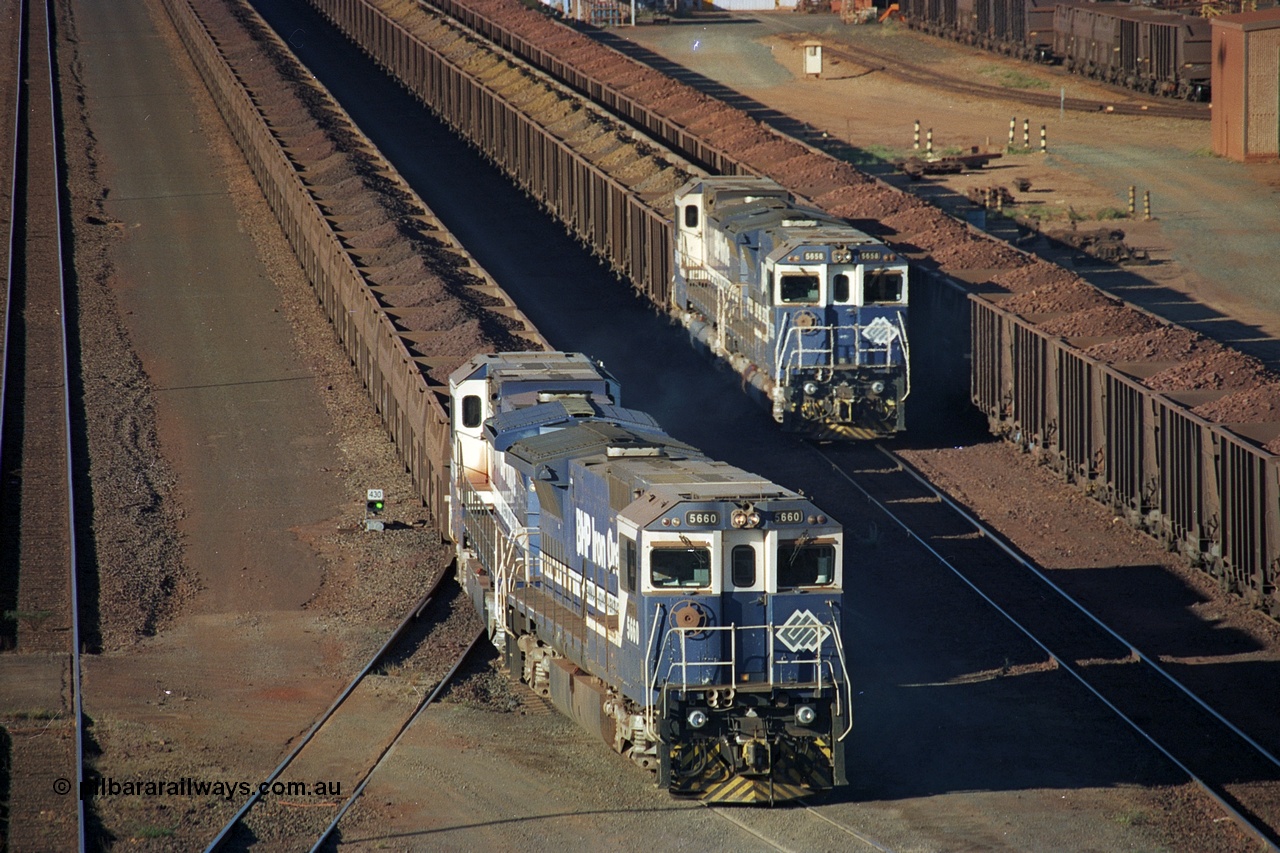
[(1280, 156), (1280, 8), (1213, 19), (1213, 154)]

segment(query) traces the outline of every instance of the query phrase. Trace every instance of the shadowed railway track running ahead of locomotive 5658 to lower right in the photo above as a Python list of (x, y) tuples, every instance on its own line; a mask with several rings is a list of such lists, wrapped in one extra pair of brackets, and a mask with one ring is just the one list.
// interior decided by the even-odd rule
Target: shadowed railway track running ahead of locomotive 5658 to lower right
[[(1236, 726), (1175, 678), (1157, 656), (1125, 639), (1052, 583), (998, 534), (883, 447), (814, 448), (892, 523), (923, 546), (1140, 738), (1172, 762), (1243, 833), (1280, 849), (1280, 760), (1263, 735)], [(1018, 672), (984, 678), (1016, 678)]]

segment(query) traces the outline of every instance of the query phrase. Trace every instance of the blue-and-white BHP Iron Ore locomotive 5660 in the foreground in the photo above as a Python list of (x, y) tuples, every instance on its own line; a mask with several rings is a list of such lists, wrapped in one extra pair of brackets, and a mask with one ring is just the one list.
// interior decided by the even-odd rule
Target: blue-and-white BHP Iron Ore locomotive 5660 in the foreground
[(675, 795), (845, 784), (842, 529), (620, 407), (581, 355), (449, 379), (458, 573), (512, 674)]

